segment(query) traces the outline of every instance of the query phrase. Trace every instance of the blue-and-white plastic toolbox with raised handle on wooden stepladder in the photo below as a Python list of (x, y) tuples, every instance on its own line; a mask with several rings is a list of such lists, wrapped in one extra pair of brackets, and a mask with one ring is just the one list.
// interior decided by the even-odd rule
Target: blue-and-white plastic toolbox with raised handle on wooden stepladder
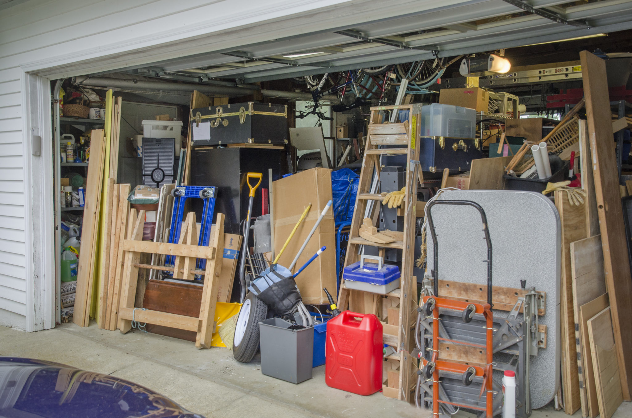
[[(365, 259), (373, 259), (377, 263), (367, 263)], [(366, 254), (360, 255), (360, 261), (344, 267), (343, 273), (346, 288), (382, 295), (398, 288), (400, 277), (398, 266), (384, 264), (382, 257)]]

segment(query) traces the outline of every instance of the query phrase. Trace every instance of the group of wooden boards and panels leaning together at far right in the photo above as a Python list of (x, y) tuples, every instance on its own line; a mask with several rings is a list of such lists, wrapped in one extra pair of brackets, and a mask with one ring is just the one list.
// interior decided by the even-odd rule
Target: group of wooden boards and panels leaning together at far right
[[(632, 280), (605, 63), (582, 51), (586, 121), (580, 163), (586, 199), (556, 192), (562, 226), (560, 324), (562, 398), (567, 414), (610, 418), (632, 388)], [(616, 128), (615, 128), (616, 129)]]

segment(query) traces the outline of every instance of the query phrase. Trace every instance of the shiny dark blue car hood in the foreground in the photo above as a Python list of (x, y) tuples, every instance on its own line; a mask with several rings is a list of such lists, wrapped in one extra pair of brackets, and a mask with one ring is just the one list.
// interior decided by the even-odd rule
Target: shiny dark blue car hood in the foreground
[(0, 418), (204, 418), (166, 396), (107, 374), (0, 357)]

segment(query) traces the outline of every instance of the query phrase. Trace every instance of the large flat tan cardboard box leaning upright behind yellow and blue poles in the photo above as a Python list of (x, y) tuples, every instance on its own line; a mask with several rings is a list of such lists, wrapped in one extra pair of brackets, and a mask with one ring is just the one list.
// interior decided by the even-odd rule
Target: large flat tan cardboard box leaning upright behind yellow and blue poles
[[(279, 254), (296, 222), (312, 204), (307, 217), (300, 224), (283, 255), (279, 259), (281, 266), (289, 267), (296, 252), (312, 230), (320, 212), (331, 200), (331, 169), (312, 168), (301, 173), (274, 181), (274, 254)], [(336, 233), (334, 212), (329, 209), (320, 221), (312, 239), (296, 262), (296, 273), (305, 262), (316, 254), (320, 247), (327, 247), (312, 264), (296, 277), (296, 285), (306, 304), (327, 304), (327, 295), (322, 291), (326, 287), (329, 293), (336, 293)], [(333, 292), (332, 292), (333, 291)]]

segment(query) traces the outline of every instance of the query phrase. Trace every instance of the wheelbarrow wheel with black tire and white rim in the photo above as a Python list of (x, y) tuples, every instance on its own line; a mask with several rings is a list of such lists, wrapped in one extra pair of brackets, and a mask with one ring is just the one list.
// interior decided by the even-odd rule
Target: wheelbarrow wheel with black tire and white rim
[(233, 338), (233, 355), (235, 360), (248, 363), (259, 350), (259, 322), (268, 313), (268, 305), (253, 293), (248, 293), (237, 317)]

